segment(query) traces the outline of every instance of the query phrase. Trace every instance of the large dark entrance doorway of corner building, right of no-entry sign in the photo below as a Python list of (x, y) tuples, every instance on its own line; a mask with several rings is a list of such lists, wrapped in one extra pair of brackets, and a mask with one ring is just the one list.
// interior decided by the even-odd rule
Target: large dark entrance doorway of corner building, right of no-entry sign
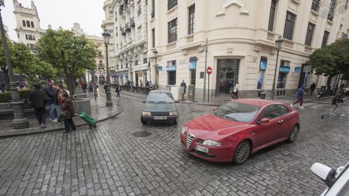
[(230, 97), (231, 89), (237, 82), (239, 75), (240, 59), (218, 59), (216, 96)]

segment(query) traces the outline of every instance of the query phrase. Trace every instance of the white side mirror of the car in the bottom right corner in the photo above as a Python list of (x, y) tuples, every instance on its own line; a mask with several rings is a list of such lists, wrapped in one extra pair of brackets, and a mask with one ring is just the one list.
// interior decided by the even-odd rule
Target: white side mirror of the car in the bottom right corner
[(311, 171), (316, 176), (321, 178), (321, 180), (324, 181), (328, 187), (331, 187), (335, 183), (335, 169), (332, 169), (331, 167), (328, 167), (321, 163), (314, 163), (313, 165), (311, 165)]

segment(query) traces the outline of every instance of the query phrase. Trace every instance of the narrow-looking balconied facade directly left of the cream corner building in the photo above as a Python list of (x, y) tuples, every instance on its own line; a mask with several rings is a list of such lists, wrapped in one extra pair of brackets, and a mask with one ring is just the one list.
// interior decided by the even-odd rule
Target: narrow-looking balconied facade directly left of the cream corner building
[(106, 4), (110, 7), (104, 10), (112, 10), (109, 13), (114, 14), (114, 57), (118, 83), (125, 85), (130, 82), (133, 86), (144, 87), (146, 81), (151, 80), (147, 55), (147, 1), (113, 0), (105, 1)]

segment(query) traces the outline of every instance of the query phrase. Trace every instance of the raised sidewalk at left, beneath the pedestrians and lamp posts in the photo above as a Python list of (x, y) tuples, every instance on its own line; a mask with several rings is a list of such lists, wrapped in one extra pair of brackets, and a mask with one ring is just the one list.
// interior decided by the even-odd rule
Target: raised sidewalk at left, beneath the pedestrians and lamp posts
[[(102, 92), (103, 93), (103, 92)], [(101, 93), (100, 93), (101, 94)], [(91, 103), (91, 116), (97, 121), (102, 122), (108, 120), (109, 118), (119, 115), (123, 111), (123, 107), (120, 106), (117, 100), (113, 100), (113, 107), (105, 107), (105, 98), (99, 95), (96, 100), (92, 94), (82, 94), (79, 97), (90, 98)], [(42, 132), (51, 132), (55, 130), (64, 130), (64, 122), (61, 124), (51, 123), (49, 121), (49, 116), (47, 115), (46, 123), (47, 128), (42, 128), (38, 125), (36, 118), (30, 118), (29, 128), (23, 129), (13, 129), (12, 120), (0, 120), (0, 138), (2, 137), (14, 137), (20, 135), (32, 135)], [(76, 126), (86, 125), (86, 122), (81, 120), (79, 116), (73, 117), (73, 121)], [(97, 124), (98, 127), (98, 124)]]

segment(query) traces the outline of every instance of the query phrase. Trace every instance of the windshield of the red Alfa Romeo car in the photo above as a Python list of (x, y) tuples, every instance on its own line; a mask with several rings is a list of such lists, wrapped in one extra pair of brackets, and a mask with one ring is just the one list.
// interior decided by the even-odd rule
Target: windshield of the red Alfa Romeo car
[(214, 111), (214, 115), (237, 122), (251, 122), (259, 111), (259, 107), (250, 104), (228, 102)]

